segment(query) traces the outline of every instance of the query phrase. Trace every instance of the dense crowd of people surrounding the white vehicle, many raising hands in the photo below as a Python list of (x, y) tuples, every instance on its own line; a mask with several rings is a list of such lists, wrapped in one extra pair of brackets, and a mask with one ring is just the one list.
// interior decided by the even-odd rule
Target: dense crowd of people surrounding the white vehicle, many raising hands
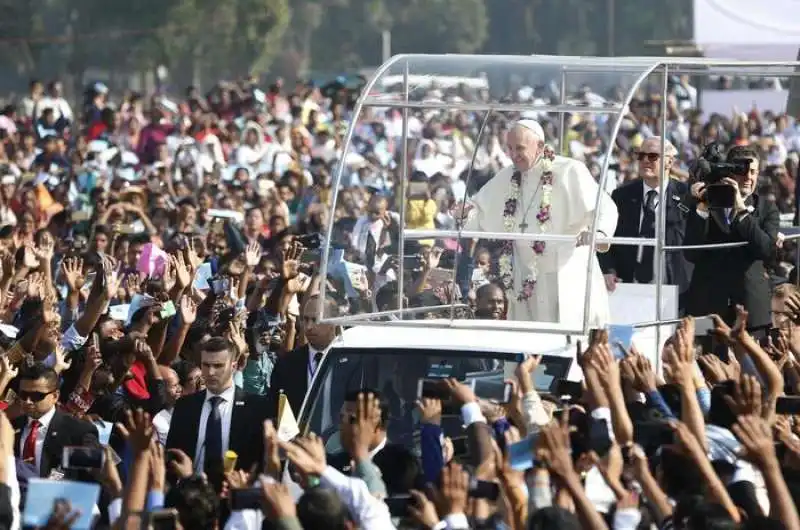
[[(563, 134), (557, 116), (535, 117), (596, 178), (615, 141), (608, 191), (619, 199), (653, 179), (666, 105), (676, 182), (688, 188), (707, 143), (747, 146), (759, 194), (793, 212), (793, 118), (704, 117), (689, 79), (670, 86), (667, 101), (637, 94), (616, 139), (608, 116), (569, 116)], [(497, 98), (464, 85), (418, 92)], [(575, 98), (618, 95), (579, 87)], [(505, 135), (521, 116), (497, 113), (479, 137), (482, 113), (412, 112), (401, 185), (402, 113), (353, 116), (353, 102), (337, 83), (243, 79), (172, 97), (96, 83), (78, 108), (58, 81), (33, 81), (3, 108), (0, 527), (800, 528), (800, 293), (783, 280), (766, 310), (716, 318), (708, 343), (684, 319), (663, 374), (597, 332), (578, 347), (584, 381), (571, 394), (534, 388), (542, 360), (528, 356), (508, 403), (443, 379), (416, 404), (409, 443), (392, 439), (389, 396), (360, 386), (340, 389), (342, 452), (328, 452), (329, 433), (286, 435), (278, 419), (287, 404), (300, 411), (340, 332), (321, 307), (457, 300), (463, 318), (506, 314), (491, 242), (406, 241), (401, 254), (398, 212), (405, 201), (405, 228), (455, 228), (454, 205), (511, 164)], [(769, 272), (789, 278), (791, 245), (774, 251)], [(652, 268), (641, 279), (617, 265), (629, 258), (604, 259), (609, 289), (652, 281)], [(767, 329), (755, 333), (748, 310), (766, 311), (771, 322), (755, 327)], [(443, 427), (453, 417), (466, 447)]]

